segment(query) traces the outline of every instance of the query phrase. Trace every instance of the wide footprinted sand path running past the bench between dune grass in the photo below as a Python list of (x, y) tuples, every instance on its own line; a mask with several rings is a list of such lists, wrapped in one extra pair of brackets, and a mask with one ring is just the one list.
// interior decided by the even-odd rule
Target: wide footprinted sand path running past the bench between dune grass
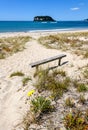
[[(24, 51), (18, 52), (5, 60), (0, 60), (0, 130), (13, 130), (13, 127), (21, 121), (28, 109), (27, 104), (25, 104), (27, 92), (33, 89), (33, 86), (30, 84), (24, 90), (22, 88), (22, 77), (10, 78), (10, 74), (22, 71), (25, 75), (32, 76), (35, 69), (29, 66), (31, 62), (62, 53), (66, 54), (55, 49), (46, 49), (38, 44), (36, 40), (32, 40), (26, 44)], [(80, 63), (81, 65), (86, 65), (85, 60), (81, 61), (69, 53), (67, 53), (66, 60), (70, 61), (70, 64), (74, 61), (76, 66)], [(76, 62), (77, 60), (79, 60), (79, 64)], [(64, 67), (68, 68), (67, 70), (69, 71), (69, 64), (64, 65)], [(74, 69), (73, 67), (69, 71), (71, 75)]]

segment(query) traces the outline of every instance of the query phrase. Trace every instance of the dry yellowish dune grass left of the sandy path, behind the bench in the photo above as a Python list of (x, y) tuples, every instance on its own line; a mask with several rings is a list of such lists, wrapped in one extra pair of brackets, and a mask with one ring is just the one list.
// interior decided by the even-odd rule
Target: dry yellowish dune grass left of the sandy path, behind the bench
[(0, 59), (22, 51), (25, 49), (25, 43), (30, 39), (29, 36), (0, 38)]

